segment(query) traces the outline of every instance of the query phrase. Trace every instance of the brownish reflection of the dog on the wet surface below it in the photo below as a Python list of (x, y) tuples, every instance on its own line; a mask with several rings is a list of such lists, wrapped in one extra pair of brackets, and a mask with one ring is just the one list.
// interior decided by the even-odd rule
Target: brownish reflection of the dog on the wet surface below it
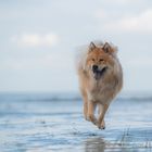
[(89, 138), (85, 141), (85, 152), (104, 152), (105, 141), (101, 137)]

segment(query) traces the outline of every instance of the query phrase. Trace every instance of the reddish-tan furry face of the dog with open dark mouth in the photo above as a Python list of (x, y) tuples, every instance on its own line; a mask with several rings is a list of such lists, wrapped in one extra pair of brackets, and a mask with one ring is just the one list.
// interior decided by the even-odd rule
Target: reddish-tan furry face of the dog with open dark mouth
[(86, 66), (89, 74), (97, 80), (105, 75), (107, 71), (113, 69), (114, 51), (107, 42), (102, 47), (97, 47), (93, 42), (90, 43)]

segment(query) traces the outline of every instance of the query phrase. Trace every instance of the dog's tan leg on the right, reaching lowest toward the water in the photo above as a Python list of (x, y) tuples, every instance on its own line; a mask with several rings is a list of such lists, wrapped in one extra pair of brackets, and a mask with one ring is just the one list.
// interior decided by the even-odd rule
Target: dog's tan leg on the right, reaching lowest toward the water
[(104, 129), (105, 128), (104, 115), (105, 115), (107, 109), (109, 109), (107, 104), (104, 104), (102, 106), (102, 110), (100, 109), (100, 115), (99, 115), (99, 119), (98, 119), (98, 127), (99, 127), (99, 129)]

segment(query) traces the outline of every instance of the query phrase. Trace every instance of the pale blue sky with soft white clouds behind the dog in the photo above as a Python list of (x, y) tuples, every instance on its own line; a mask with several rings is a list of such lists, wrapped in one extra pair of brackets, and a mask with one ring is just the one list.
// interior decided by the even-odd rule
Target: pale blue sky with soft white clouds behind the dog
[(124, 92), (152, 91), (151, 0), (0, 1), (0, 91), (76, 92), (75, 54), (113, 42)]

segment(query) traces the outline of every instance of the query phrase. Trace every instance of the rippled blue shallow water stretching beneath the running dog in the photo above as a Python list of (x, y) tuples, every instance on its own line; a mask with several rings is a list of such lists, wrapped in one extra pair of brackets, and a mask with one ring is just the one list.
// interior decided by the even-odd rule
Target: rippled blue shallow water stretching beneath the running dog
[(152, 151), (150, 97), (115, 100), (105, 130), (81, 109), (77, 96), (0, 94), (0, 152)]

